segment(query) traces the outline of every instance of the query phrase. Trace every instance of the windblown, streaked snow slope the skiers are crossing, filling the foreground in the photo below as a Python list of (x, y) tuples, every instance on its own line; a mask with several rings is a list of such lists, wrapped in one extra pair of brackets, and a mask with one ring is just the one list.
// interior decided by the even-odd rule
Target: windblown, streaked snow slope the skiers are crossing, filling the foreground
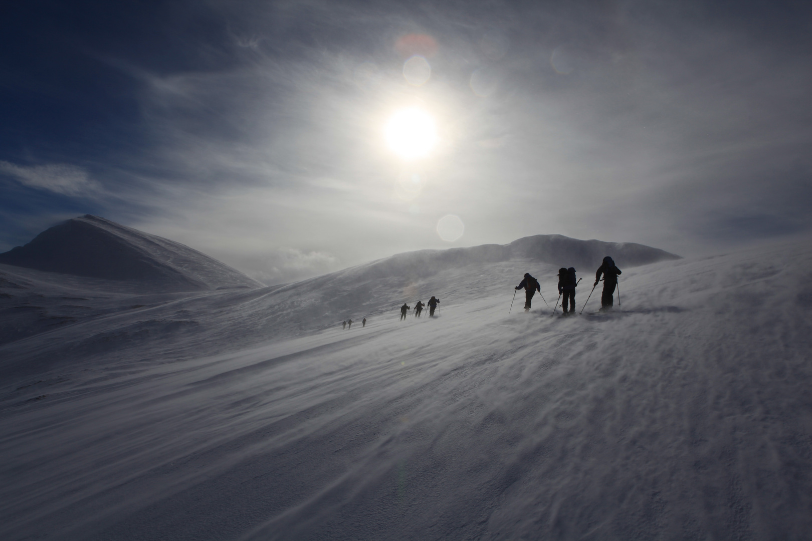
[[(13, 341), (0, 538), (808, 539), (809, 246), (615, 258), (609, 314), (596, 290), (584, 316), (538, 297), (508, 315), (526, 271), (552, 305), (565, 262), (497, 258), (413, 281), (370, 264)], [(354, 277), (442, 311), (359, 307)], [(263, 319), (339, 287), (331, 328)], [(240, 349), (266, 321), (275, 338)]]

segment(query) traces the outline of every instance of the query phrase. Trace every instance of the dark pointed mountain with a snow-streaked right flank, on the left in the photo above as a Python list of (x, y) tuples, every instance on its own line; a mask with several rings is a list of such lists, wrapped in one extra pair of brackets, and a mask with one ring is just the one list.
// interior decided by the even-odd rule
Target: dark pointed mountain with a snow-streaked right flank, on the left
[(263, 284), (167, 238), (85, 214), (54, 225), (0, 263), (51, 273), (143, 281), (153, 290), (197, 291)]

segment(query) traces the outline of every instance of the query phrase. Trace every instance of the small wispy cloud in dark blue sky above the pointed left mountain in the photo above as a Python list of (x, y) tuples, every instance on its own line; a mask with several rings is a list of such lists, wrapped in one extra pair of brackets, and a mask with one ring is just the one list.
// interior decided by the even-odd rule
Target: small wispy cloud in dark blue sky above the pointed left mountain
[(0, 174), (7, 174), (24, 186), (62, 195), (91, 195), (100, 189), (87, 171), (76, 165), (15, 165), (0, 160)]

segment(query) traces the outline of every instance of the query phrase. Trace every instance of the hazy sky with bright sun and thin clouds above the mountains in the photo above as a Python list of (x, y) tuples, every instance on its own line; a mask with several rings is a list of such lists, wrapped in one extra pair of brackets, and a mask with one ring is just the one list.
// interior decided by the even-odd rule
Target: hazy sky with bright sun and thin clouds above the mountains
[(6, 4), (0, 251), (91, 213), (274, 284), (812, 230), (808, 2)]

